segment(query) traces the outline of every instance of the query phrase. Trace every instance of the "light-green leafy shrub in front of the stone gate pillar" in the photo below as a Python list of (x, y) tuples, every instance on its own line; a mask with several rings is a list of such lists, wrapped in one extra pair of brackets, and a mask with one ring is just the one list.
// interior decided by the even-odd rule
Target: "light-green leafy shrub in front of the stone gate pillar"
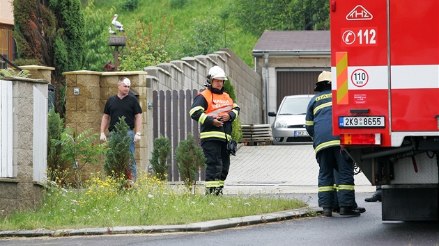
[[(57, 119), (54, 118), (53, 124), (56, 127)], [(92, 134), (92, 129), (88, 129), (76, 135), (75, 131), (66, 127), (63, 133), (61, 133), (61, 138), (59, 140), (52, 138), (51, 142), (56, 148), (61, 147), (61, 154), (59, 157), (62, 158), (61, 163), (66, 166), (63, 168), (70, 168), (74, 172), (76, 187), (82, 186), (82, 169), (86, 165), (94, 165), (100, 161), (100, 156), (105, 154), (106, 143), (100, 145), (93, 145), (93, 141), (98, 138), (98, 133)], [(51, 136), (55, 137), (56, 136)], [(59, 169), (60, 170), (60, 169)]]

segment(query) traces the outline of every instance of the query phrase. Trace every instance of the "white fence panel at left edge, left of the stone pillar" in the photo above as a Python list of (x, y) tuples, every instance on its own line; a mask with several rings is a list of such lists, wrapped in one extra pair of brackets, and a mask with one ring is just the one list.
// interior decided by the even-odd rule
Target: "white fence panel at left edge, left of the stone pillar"
[(0, 177), (13, 177), (13, 83), (0, 80)]

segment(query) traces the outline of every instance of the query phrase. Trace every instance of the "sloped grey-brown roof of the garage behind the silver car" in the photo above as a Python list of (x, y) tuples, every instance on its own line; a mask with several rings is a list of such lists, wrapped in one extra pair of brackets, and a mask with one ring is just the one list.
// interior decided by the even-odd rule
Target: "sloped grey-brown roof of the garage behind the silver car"
[(265, 31), (253, 47), (253, 56), (330, 55), (330, 31)]

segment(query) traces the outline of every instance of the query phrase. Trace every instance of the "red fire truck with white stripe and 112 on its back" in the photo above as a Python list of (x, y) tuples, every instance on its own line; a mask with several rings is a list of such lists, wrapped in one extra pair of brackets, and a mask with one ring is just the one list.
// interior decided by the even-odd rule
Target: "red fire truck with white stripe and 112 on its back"
[(334, 135), (383, 220), (438, 220), (439, 1), (330, 0)]

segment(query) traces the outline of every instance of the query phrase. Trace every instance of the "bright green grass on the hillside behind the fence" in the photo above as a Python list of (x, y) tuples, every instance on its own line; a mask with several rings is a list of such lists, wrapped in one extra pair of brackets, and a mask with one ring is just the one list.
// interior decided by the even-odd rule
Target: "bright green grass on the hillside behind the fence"
[[(233, 19), (233, 15), (229, 15), (224, 26), (220, 15), (224, 12), (230, 13), (230, 11), (233, 11), (229, 8), (231, 4), (230, 0), (186, 0), (182, 8), (172, 8), (172, 0), (139, 0), (137, 9), (132, 11), (121, 9), (120, 6), (123, 1), (128, 0), (95, 0), (95, 6), (96, 8), (105, 10), (114, 6), (119, 16), (118, 21), (124, 26), (129, 26), (134, 22), (141, 21), (146, 24), (151, 23), (157, 32), (160, 30), (163, 15), (166, 15), (167, 19), (173, 19), (174, 32), (170, 37), (167, 47), (167, 51), (171, 55), (179, 54), (178, 49), (181, 49), (181, 40), (192, 35), (197, 35), (192, 28), (197, 20), (216, 19), (221, 22), (219, 24), (221, 28), (217, 30), (217, 32), (224, 33), (224, 29), (226, 31), (226, 40), (223, 40), (224, 48), (230, 48), (247, 65), (253, 67), (252, 49), (259, 37), (243, 32), (236, 26), (236, 20)], [(82, 5), (86, 6), (84, 0), (82, 1)], [(108, 20), (109, 24), (111, 23), (111, 17), (109, 17)], [(173, 60), (180, 58), (181, 57), (172, 57)]]

